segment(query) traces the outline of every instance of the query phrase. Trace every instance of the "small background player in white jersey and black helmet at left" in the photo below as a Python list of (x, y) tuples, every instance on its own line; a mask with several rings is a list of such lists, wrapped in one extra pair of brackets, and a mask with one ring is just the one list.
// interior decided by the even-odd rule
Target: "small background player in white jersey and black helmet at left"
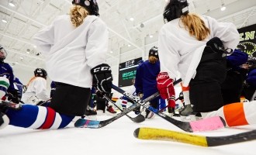
[(34, 75), (27, 84), (26, 92), (22, 95), (22, 102), (29, 105), (37, 105), (50, 98), (47, 94), (47, 71), (36, 68)]

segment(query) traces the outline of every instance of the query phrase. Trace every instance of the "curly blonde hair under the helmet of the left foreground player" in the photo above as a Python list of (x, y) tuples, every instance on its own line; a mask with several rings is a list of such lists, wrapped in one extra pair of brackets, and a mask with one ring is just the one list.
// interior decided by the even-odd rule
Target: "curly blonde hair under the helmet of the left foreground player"
[(89, 12), (80, 5), (73, 5), (69, 14), (71, 15), (71, 22), (73, 26), (78, 27), (84, 22), (84, 19)]

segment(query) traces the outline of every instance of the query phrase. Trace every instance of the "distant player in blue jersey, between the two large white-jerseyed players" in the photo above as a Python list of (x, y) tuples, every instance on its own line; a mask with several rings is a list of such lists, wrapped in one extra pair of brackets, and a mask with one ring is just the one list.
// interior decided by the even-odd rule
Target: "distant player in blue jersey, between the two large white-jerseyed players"
[[(157, 74), (160, 72), (160, 61), (158, 57), (158, 48), (152, 47), (149, 50), (148, 60), (145, 60), (137, 67), (135, 88), (137, 95), (144, 99), (157, 92)], [(156, 109), (159, 108), (159, 99), (154, 98), (150, 105)], [(175, 100), (168, 102), (168, 109), (171, 113), (175, 108)], [(147, 117), (149, 116), (149, 117)], [(150, 118), (149, 111), (146, 110), (146, 118)]]

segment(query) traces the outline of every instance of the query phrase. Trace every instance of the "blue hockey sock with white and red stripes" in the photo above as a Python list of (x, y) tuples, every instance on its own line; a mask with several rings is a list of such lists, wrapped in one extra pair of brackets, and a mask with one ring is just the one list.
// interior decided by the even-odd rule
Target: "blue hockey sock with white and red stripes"
[(20, 110), (10, 108), (6, 115), (10, 119), (9, 125), (29, 129), (61, 129), (74, 119), (74, 116), (60, 114), (53, 108), (36, 105), (22, 105)]

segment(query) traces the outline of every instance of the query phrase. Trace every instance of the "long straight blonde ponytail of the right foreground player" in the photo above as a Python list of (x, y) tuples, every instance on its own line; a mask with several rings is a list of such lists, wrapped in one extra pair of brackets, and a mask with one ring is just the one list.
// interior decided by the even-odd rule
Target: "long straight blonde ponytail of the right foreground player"
[(205, 40), (209, 36), (210, 30), (199, 15), (188, 13), (187, 15), (182, 15), (181, 20), (185, 25), (185, 29), (189, 31), (191, 36), (195, 36), (197, 40)]

